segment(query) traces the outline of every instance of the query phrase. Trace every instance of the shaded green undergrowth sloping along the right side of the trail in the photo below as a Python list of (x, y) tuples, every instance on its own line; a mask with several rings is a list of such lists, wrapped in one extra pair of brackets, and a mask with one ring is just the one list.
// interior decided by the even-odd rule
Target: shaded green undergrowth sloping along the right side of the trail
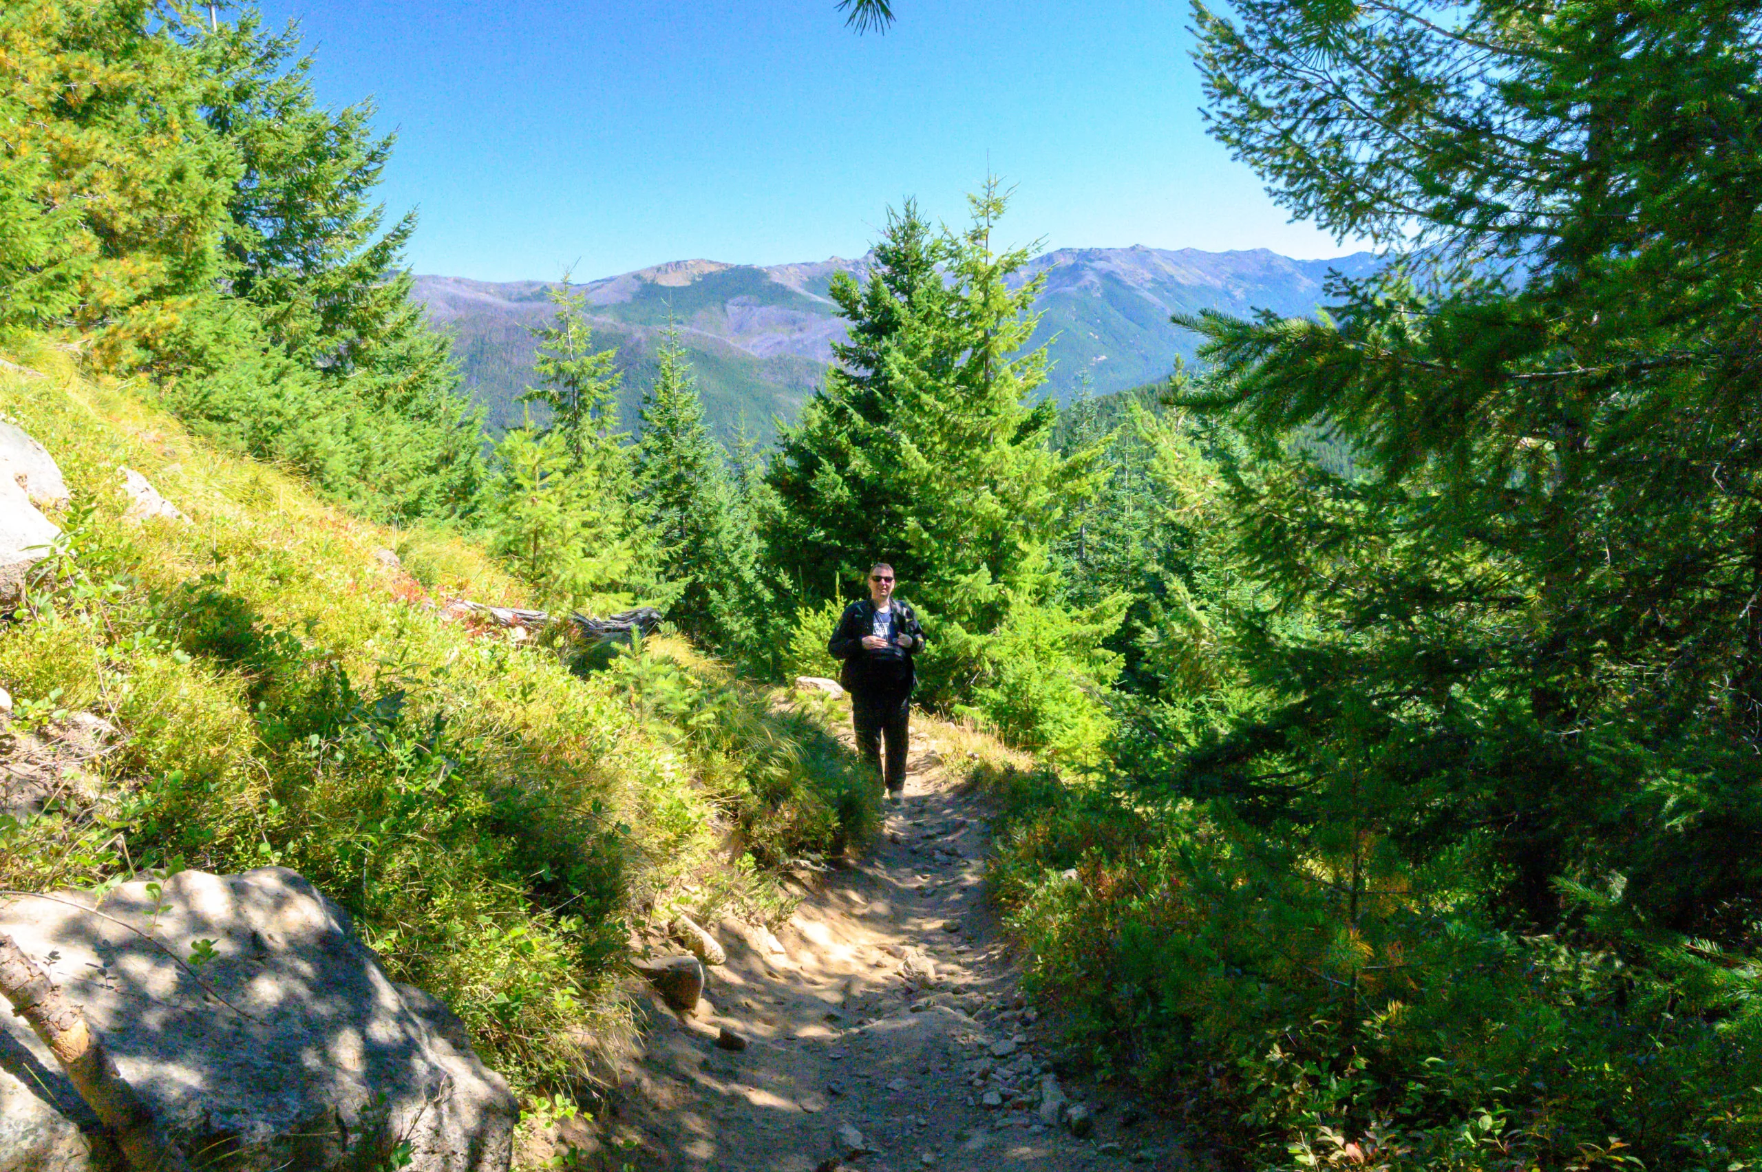
[(1762, 1167), (1757, 973), (1619, 911), (1499, 929), (1471, 874), (973, 763), (990, 888), (1073, 1054), (1226, 1168)]

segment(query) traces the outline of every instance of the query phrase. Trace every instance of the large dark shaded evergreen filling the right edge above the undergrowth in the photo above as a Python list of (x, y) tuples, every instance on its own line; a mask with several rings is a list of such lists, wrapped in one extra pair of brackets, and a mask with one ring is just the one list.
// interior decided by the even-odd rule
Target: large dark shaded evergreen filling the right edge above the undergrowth
[(1417, 857), (1473, 837), (1508, 922), (1616, 869), (1635, 915), (1732, 931), (1762, 890), (1748, 9), (1240, 11), (1202, 11), (1219, 136), (1293, 213), (1427, 248), (1327, 321), (1182, 319), (1219, 367), (1195, 404), (1249, 437), (1244, 564), (1318, 617), (1255, 634), (1286, 707), (1244, 784), (1300, 742), (1388, 777)]

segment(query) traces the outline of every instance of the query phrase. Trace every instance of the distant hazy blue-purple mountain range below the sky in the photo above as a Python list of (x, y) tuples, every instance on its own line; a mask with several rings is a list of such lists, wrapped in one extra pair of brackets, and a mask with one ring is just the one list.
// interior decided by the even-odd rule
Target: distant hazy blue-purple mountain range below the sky
[[(1107, 395), (1165, 377), (1177, 358), (1191, 360), (1195, 335), (1168, 315), (1218, 308), (1269, 308), (1307, 315), (1323, 298), (1329, 271), (1364, 277), (1378, 264), (1369, 252), (1323, 259), (1253, 248), (1059, 248), (1034, 257), (1017, 280), (1045, 273), (1034, 307), (1040, 328), (1029, 345), (1048, 345), (1045, 391), (1070, 402), (1085, 391)], [(655, 337), (677, 323), (691, 354), (712, 425), (724, 437), (740, 421), (768, 439), (774, 419), (791, 421), (844, 337), (844, 321), (826, 296), (832, 275), (869, 275), (870, 257), (832, 257), (803, 264), (724, 264), (671, 261), (578, 286), (587, 294), (596, 347), (615, 345), (624, 370), (626, 427), (654, 381)], [(453, 331), (465, 382), (488, 409), (492, 428), (518, 423), (520, 391), (532, 379), (529, 328), (552, 315), (555, 282), (486, 282), (418, 277), (416, 296), (430, 317)]]

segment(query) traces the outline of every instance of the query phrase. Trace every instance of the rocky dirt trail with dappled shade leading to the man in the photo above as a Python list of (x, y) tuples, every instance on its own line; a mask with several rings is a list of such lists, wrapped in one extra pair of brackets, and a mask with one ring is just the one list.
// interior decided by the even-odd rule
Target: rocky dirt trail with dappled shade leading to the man
[[(655, 1003), (613, 1096), (626, 1149), (604, 1167), (1189, 1167), (1172, 1128), (1119, 1089), (1059, 1079), (1092, 1112), (1084, 1139), (1040, 1110), (1057, 1033), (1018, 996), (981, 897), (988, 809), (922, 724), (906, 800), (863, 858), (825, 876), (779, 938), (721, 925), (728, 962), (696, 1015)], [(724, 1026), (747, 1049), (717, 1049)], [(853, 1154), (846, 1124), (874, 1151)]]

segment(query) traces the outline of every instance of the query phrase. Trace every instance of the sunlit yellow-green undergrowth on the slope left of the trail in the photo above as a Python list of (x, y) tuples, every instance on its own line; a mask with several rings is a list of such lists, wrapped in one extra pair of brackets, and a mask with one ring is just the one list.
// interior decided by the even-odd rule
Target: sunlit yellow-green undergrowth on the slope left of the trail
[[(631, 927), (782, 915), (772, 869), (872, 827), (811, 708), (666, 636), (574, 675), (569, 647), (444, 613), (522, 599), (469, 543), (329, 508), (51, 347), (19, 358), (49, 377), (0, 374), (0, 411), (49, 448), (72, 506), (0, 624), (0, 684), (14, 723), (95, 712), (120, 740), (106, 797), (0, 820), (0, 886), (292, 867), (530, 1091), (627, 1027)], [(190, 523), (123, 520), (118, 465)]]

